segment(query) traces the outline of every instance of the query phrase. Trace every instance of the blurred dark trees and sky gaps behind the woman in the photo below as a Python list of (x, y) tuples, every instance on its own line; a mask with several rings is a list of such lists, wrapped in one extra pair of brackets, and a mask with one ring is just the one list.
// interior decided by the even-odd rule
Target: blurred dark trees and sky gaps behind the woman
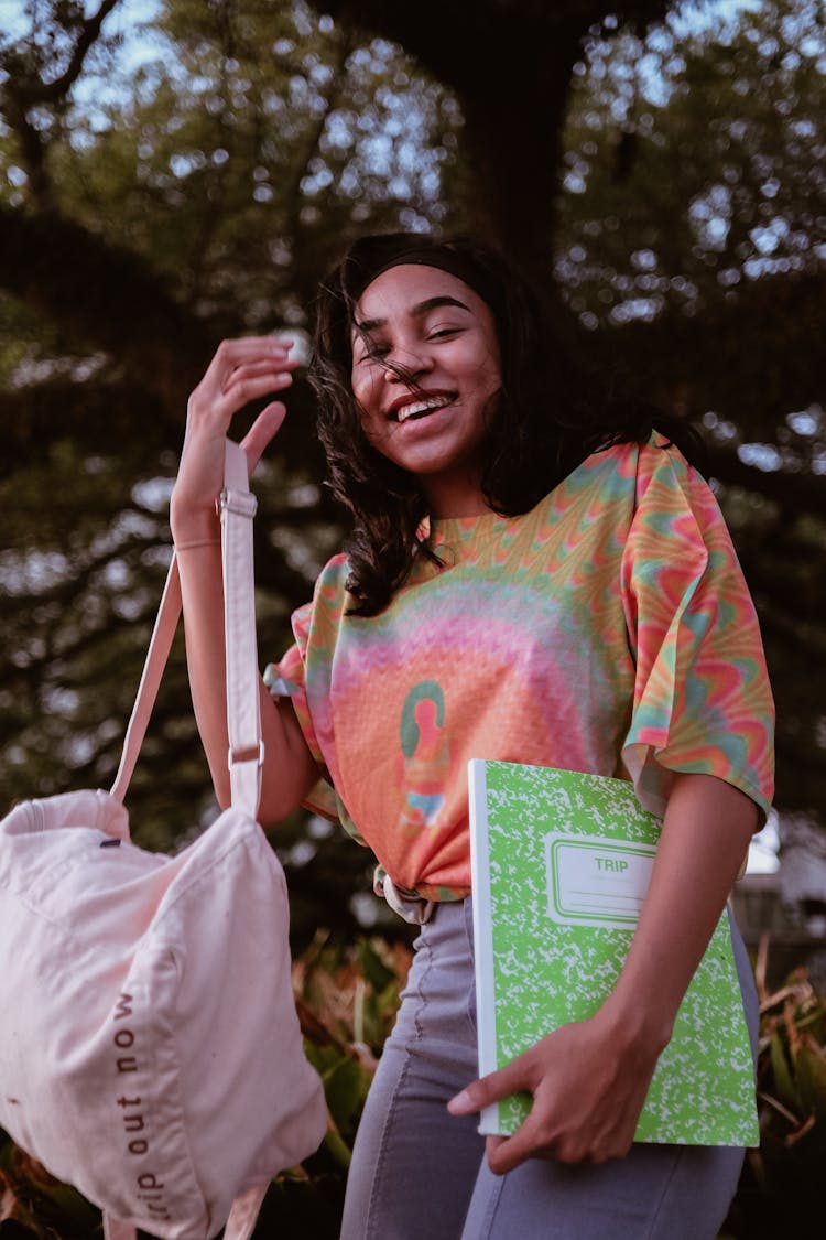
[[(301, 339), (364, 232), (472, 228), (583, 373), (705, 433), (779, 715), (738, 913), (820, 967), (825, 118), (821, 0), (0, 0), (0, 811), (113, 779), (217, 342)], [(255, 480), (261, 662), (342, 531), (301, 379), (289, 407)], [(128, 804), (150, 848), (215, 812), (182, 645)], [(297, 947), (400, 932), (342, 832), (272, 839)]]

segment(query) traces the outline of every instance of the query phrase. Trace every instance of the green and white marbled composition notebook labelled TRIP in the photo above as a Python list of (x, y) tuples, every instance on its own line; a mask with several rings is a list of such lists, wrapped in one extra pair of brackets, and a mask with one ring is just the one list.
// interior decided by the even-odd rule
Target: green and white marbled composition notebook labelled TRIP
[[(614, 985), (648, 888), (660, 820), (625, 780), (473, 760), (471, 864), (479, 1075), (582, 1021)], [(482, 1111), (514, 1132), (530, 1096)], [(723, 913), (660, 1055), (635, 1141), (757, 1146), (754, 1069)]]

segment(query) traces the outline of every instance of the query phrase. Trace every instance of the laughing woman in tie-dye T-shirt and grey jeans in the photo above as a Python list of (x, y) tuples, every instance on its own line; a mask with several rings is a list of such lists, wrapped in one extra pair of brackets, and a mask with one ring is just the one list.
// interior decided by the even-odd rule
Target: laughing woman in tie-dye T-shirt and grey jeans
[[(565, 401), (536, 306), (467, 241), (358, 243), (321, 290), (311, 379), (347, 554), (261, 687), (261, 822), (336, 813), (422, 924), (359, 1128), (346, 1240), (713, 1240), (743, 1152), (633, 1145), (658, 1056), (772, 795), (754, 610), (700, 475), (644, 415)], [(225, 342), (192, 396), (172, 529), (198, 725), (228, 801), (223, 438), (286, 388), (272, 337)], [(254, 463), (284, 418), (274, 402)], [(625, 967), (588, 1021), (474, 1080), (464, 769), (625, 774), (663, 837)], [(752, 1034), (757, 1011), (742, 944)], [(528, 1089), (530, 1117), (477, 1112)], [(487, 1147), (487, 1148), (485, 1148)]]

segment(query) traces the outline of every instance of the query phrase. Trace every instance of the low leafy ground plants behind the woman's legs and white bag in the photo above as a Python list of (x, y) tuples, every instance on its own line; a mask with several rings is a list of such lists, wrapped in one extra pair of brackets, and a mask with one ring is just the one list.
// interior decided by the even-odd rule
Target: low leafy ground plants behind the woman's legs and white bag
[[(256, 1235), (338, 1235), (347, 1168), (362, 1106), (410, 962), (405, 944), (363, 937), (342, 946), (318, 932), (297, 960), (296, 1001), (311, 1061), (324, 1081), (329, 1126), (318, 1153), (272, 1183)], [(821, 1210), (826, 1154), (826, 996), (805, 970), (760, 996), (760, 1146), (748, 1151), (721, 1240), (776, 1240)], [(15, 1231), (11, 1230), (11, 1220)], [(99, 1214), (0, 1135), (0, 1230), (48, 1240), (97, 1240)]]

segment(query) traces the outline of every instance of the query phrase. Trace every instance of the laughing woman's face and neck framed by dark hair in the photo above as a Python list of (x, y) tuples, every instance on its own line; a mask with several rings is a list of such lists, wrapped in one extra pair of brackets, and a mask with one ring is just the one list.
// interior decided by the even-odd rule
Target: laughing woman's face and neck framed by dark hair
[(379, 275), (355, 306), (352, 383), (367, 438), (421, 480), (431, 516), (488, 511), (483, 441), (502, 373), (493, 315), (473, 289), (414, 263)]

